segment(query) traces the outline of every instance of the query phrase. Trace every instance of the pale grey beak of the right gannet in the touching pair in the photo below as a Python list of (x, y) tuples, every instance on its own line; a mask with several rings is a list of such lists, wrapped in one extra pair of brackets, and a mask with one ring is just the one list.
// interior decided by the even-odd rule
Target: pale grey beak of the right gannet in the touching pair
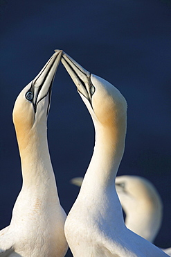
[(61, 58), (62, 64), (66, 68), (66, 71), (71, 76), (73, 82), (78, 88), (78, 92), (84, 95), (89, 101), (91, 101), (91, 96), (89, 94), (89, 88), (91, 87), (90, 72), (84, 69), (81, 65), (75, 62), (66, 53), (62, 53)]

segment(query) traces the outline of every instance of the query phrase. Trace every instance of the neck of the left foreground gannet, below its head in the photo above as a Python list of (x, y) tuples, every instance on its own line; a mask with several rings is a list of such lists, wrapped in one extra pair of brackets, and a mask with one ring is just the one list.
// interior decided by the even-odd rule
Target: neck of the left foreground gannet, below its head
[(54, 179), (51, 157), (48, 151), (46, 124), (42, 127), (38, 126), (38, 128), (33, 126), (24, 138), (27, 141), (26, 147), (23, 147), (23, 142), (20, 142), (20, 140), (20, 136), (17, 135), (23, 185), (34, 186), (39, 190), (40, 186), (44, 186), (44, 181), (48, 182), (50, 178)]

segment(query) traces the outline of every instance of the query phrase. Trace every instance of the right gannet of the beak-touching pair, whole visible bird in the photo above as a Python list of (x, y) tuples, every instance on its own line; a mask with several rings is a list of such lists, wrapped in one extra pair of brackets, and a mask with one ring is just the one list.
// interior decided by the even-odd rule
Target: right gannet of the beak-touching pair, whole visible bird
[(127, 229), (116, 194), (115, 178), (125, 148), (125, 98), (114, 85), (90, 74), (66, 54), (61, 60), (91, 114), (96, 131), (91, 162), (64, 226), (73, 256), (167, 256)]

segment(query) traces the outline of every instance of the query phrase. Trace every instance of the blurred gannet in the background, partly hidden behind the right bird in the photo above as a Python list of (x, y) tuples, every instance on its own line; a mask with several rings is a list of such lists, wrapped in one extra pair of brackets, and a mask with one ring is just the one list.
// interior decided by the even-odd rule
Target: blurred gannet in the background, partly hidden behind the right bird
[[(81, 186), (82, 180), (75, 177), (71, 183)], [(154, 185), (141, 176), (116, 176), (116, 192), (125, 211), (127, 228), (154, 242), (163, 217), (163, 204)]]

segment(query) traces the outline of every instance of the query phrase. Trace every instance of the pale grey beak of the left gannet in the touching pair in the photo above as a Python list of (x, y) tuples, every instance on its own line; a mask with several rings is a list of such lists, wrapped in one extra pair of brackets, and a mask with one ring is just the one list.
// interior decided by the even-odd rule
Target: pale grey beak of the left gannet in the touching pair
[[(53, 79), (55, 72), (60, 63), (62, 56), (62, 50), (55, 50), (55, 53), (48, 60), (46, 65), (42, 68), (39, 74), (31, 81), (30, 90), (26, 93), (26, 98), (32, 101), (35, 113), (37, 109), (37, 103), (44, 99), (47, 95), (51, 99), (51, 89), (53, 85)], [(49, 100), (50, 101), (50, 100)]]

